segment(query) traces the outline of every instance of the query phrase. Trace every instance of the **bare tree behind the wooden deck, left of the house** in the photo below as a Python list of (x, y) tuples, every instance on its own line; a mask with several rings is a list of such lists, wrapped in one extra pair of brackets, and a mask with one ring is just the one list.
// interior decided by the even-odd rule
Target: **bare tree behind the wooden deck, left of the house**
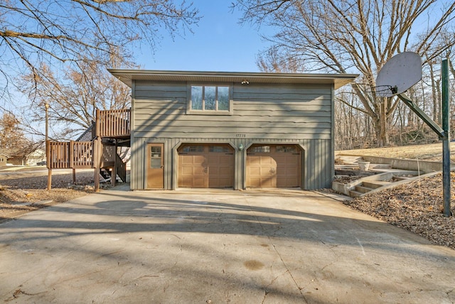
[[(129, 87), (119, 82), (100, 64), (84, 60), (77, 63), (77, 68), (68, 67), (63, 75), (56, 75), (45, 65), (40, 70), (40, 75), (32, 72), (23, 77), (21, 90), (28, 94), (31, 101), (26, 109), (31, 112), (29, 125), (43, 121), (44, 104), (50, 105), (52, 139), (70, 139), (85, 131), (95, 121), (96, 109), (130, 107)], [(43, 135), (39, 129), (29, 131)]]

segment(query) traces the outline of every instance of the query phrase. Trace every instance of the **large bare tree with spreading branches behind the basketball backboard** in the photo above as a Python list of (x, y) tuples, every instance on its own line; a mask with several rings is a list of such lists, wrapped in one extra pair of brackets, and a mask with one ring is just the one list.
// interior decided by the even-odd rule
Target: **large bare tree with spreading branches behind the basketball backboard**
[[(270, 50), (298, 63), (299, 70), (360, 72), (353, 89), (373, 120), (378, 146), (389, 144), (387, 130), (398, 104), (371, 89), (380, 68), (405, 50), (419, 53), (427, 63), (455, 44), (453, 1), (237, 0), (234, 7), (244, 11), (243, 22), (278, 28), (267, 37), (273, 43)], [(434, 45), (443, 33), (451, 35)]]

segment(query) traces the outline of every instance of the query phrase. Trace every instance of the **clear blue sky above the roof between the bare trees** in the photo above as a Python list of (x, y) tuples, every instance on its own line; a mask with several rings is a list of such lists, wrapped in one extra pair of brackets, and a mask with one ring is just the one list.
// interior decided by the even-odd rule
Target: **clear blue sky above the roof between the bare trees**
[[(176, 36), (165, 32), (155, 53), (134, 50), (134, 58), (146, 70), (191, 70), (216, 72), (259, 72), (256, 55), (266, 48), (255, 26), (238, 23), (241, 13), (232, 12), (228, 0), (193, 0), (203, 16), (193, 33)], [(264, 33), (264, 28), (260, 28)]]

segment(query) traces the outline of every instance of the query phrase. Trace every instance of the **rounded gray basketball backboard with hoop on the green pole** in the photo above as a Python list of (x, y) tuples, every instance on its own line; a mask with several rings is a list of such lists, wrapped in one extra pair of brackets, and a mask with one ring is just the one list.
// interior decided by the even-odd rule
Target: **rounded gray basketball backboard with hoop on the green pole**
[(422, 59), (417, 53), (403, 52), (390, 58), (376, 77), (376, 94), (392, 97), (406, 92), (422, 80)]

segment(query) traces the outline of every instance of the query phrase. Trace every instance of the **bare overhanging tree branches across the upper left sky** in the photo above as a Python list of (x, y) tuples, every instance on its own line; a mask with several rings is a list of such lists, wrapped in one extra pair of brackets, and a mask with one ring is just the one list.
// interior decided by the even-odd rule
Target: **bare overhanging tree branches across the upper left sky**
[(23, 65), (38, 74), (53, 63), (85, 60), (108, 64), (117, 49), (144, 40), (152, 47), (159, 28), (171, 36), (199, 20), (192, 4), (172, 0), (0, 1), (0, 75)]

